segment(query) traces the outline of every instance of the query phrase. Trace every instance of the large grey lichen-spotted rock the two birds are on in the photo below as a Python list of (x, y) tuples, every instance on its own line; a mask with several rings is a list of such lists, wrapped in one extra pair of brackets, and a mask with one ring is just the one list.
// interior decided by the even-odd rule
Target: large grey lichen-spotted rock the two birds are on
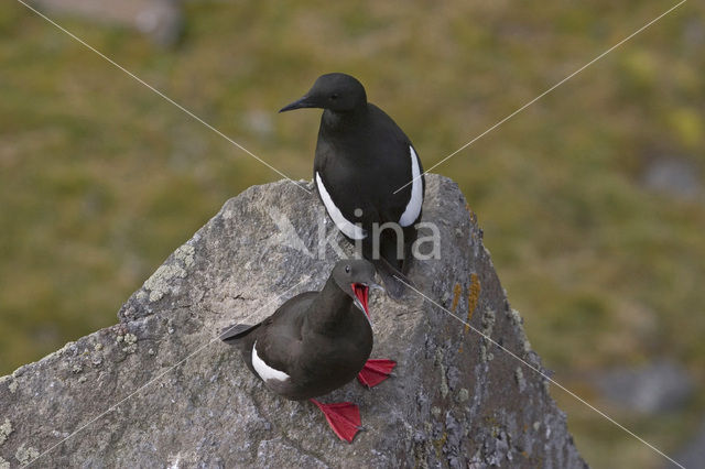
[[(312, 404), (263, 388), (216, 335), (322, 286), (336, 261), (330, 244), (319, 244), (326, 220), (315, 195), (289, 182), (226, 203), (130, 297), (119, 324), (2, 379), (0, 425), (9, 432), (0, 456), (13, 467), (31, 461), (87, 425), (37, 465), (585, 466), (545, 381), (413, 292), (402, 303), (371, 303), (372, 355), (398, 360), (397, 375), (323, 399), (360, 405), (367, 432), (352, 444)], [(541, 367), (453, 182), (429, 176), (424, 220), (440, 229), (441, 259), (415, 263), (416, 286)]]

